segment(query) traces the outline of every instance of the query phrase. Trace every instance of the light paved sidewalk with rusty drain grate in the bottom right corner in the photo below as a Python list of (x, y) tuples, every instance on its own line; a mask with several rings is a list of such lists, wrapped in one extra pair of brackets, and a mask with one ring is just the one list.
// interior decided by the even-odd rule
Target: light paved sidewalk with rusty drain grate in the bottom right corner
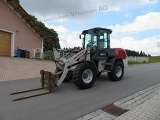
[[(108, 105), (77, 120), (160, 120), (160, 83), (114, 102), (113, 105), (114, 108)], [(125, 112), (118, 115), (115, 111), (120, 108)]]

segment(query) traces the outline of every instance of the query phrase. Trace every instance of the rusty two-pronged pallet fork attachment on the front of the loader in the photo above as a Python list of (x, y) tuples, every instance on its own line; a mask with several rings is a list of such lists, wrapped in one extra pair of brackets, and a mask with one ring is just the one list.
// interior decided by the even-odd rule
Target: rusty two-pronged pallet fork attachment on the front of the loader
[(40, 88), (17, 91), (17, 92), (11, 93), (10, 95), (16, 95), (16, 94), (20, 94), (20, 93), (26, 93), (26, 92), (41, 90), (41, 89), (44, 89), (44, 85), (47, 85), (48, 91), (47, 92), (42, 92), (42, 93), (39, 93), (39, 94), (32, 94), (32, 95), (28, 95), (28, 96), (19, 97), (19, 98), (13, 99), (13, 101), (27, 99), (27, 98), (36, 97), (36, 96), (51, 93), (51, 89), (52, 89), (52, 87), (54, 87), (54, 85), (52, 85), (52, 82), (51, 82), (51, 72), (41, 70), (40, 74), (41, 74), (41, 87)]

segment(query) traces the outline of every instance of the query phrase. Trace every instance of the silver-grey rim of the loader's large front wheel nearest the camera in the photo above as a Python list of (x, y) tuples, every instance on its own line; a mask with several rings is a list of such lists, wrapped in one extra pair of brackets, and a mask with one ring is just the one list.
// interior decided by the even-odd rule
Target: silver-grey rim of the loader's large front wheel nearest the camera
[(90, 69), (86, 69), (82, 74), (82, 79), (85, 83), (90, 83), (93, 79), (93, 72)]

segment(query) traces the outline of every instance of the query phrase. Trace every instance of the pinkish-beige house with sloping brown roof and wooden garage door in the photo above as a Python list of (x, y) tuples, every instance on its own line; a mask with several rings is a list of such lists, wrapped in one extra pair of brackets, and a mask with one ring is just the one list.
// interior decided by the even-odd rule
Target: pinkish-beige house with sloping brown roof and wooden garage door
[(0, 56), (15, 56), (18, 49), (43, 53), (50, 38), (22, 8), (17, 0), (0, 0)]

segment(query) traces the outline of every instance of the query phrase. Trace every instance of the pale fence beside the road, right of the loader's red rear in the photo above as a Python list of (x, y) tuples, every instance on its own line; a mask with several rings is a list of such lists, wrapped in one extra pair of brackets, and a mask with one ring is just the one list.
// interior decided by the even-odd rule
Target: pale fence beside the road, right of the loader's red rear
[(149, 57), (128, 57), (128, 62), (149, 62)]

